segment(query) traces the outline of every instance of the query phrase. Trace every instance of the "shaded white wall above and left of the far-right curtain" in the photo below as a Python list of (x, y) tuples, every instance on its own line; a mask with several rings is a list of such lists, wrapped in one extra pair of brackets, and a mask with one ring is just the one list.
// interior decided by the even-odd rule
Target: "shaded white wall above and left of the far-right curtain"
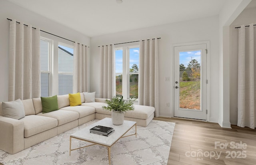
[(230, 25), (230, 122), (237, 125), (238, 97), (238, 29), (240, 25), (256, 24), (256, 8), (244, 10)]

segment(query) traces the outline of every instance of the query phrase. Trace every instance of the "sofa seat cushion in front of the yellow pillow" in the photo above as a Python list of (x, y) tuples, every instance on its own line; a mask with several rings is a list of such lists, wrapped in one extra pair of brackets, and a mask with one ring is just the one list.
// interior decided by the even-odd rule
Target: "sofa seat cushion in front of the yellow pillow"
[(95, 113), (94, 107), (86, 107), (86, 106), (68, 106), (68, 107), (63, 107), (60, 110), (77, 112), (79, 114), (79, 118)]

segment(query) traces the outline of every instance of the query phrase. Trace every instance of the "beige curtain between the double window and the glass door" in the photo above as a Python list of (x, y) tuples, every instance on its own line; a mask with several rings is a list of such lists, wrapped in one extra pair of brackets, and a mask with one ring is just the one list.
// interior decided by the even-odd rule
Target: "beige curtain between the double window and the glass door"
[(140, 40), (139, 105), (155, 107), (159, 116), (158, 39)]

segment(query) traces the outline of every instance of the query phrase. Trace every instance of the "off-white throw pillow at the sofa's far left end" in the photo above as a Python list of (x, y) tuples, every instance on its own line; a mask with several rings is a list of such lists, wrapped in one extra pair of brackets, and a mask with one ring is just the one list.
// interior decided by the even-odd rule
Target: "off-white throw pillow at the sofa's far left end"
[(12, 119), (21, 119), (25, 117), (25, 109), (20, 99), (9, 102), (2, 102), (2, 115)]

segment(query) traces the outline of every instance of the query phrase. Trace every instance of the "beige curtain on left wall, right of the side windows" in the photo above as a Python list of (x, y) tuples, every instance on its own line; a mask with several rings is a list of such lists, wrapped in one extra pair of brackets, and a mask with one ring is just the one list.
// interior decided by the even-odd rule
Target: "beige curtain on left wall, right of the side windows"
[(88, 47), (74, 43), (73, 93), (89, 90)]

